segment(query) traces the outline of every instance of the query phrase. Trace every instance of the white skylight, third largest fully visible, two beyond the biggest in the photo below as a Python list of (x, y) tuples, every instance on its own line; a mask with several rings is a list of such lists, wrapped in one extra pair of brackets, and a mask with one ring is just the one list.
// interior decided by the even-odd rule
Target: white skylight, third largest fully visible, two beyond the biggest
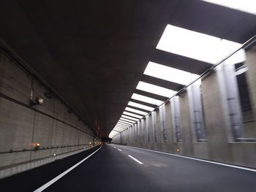
[(159, 96), (165, 96), (167, 98), (170, 98), (171, 96), (173, 96), (176, 93), (176, 91), (173, 91), (173, 90), (170, 90), (167, 88), (162, 88), (160, 86), (153, 85), (153, 84), (150, 84), (148, 82), (143, 82), (143, 81), (140, 81), (138, 83), (137, 89), (139, 89), (141, 91), (146, 91), (148, 93), (154, 93)]

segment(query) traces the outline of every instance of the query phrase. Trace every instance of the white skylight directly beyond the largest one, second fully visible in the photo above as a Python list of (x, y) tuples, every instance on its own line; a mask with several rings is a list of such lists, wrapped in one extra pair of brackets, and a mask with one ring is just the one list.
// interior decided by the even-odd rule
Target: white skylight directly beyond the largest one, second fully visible
[(151, 61), (149, 61), (144, 74), (152, 77), (157, 77), (162, 80), (176, 82), (181, 85), (187, 85), (189, 84), (189, 82), (192, 82), (199, 77), (199, 75), (197, 74), (185, 72), (170, 66), (156, 64)]

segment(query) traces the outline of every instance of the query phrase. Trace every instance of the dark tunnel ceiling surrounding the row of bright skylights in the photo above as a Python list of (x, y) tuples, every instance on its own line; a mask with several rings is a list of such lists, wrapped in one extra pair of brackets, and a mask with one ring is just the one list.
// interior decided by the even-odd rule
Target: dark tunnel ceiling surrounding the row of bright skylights
[[(0, 1), (1, 38), (107, 137), (148, 61), (200, 74), (209, 64), (155, 47), (167, 24), (235, 42), (256, 31), (255, 15), (198, 0)], [(184, 45), (186, 46), (186, 45)]]

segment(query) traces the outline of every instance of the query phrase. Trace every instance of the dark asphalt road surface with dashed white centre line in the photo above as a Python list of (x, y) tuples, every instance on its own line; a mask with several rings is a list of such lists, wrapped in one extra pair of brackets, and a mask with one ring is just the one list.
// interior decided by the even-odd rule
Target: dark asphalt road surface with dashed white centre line
[[(15, 180), (12, 183), (15, 185)], [(56, 178), (44, 191), (246, 192), (255, 189), (255, 170), (123, 145), (102, 145), (91, 157), (63, 177)]]

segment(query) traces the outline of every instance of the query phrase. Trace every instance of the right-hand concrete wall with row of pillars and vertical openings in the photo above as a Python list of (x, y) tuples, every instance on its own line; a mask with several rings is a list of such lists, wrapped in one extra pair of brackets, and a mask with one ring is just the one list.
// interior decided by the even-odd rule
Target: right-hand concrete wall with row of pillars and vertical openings
[[(254, 115), (256, 114), (256, 47), (246, 52), (246, 66), (248, 71), (246, 77), (249, 84), (249, 94), (252, 100), (252, 108)], [(256, 143), (255, 138), (255, 116), (250, 122), (253, 126), (245, 126), (243, 120), (241, 120), (241, 126), (244, 132), (241, 141), (234, 139), (234, 134), (231, 128), (230, 109), (228, 108), (227, 88), (225, 88), (223, 65), (217, 67), (211, 74), (204, 77), (201, 82), (202, 88), (202, 103), (204, 112), (204, 132), (206, 134), (206, 140), (202, 142), (195, 139), (195, 130), (192, 128), (191, 114), (189, 114), (189, 94), (184, 91), (179, 96), (179, 110), (181, 120), (181, 142), (176, 142), (175, 124), (172, 122), (172, 103), (167, 102), (165, 104), (165, 110), (157, 110), (146, 116), (144, 121), (145, 126), (148, 128), (149, 140), (147, 142), (135, 142), (134, 135), (130, 134), (131, 129), (127, 131), (127, 143), (122, 142), (120, 135), (113, 137), (113, 143), (122, 143), (135, 147), (143, 147), (151, 150), (165, 151), (169, 153), (188, 155), (195, 158), (204, 158), (212, 161), (221, 161), (230, 164), (238, 164), (243, 166), (251, 166), (256, 168)], [(229, 77), (227, 77), (229, 78)], [(233, 80), (235, 78), (233, 77)], [(232, 88), (233, 89), (233, 88)], [(238, 100), (233, 96), (233, 100)], [(236, 104), (239, 109), (239, 103)], [(165, 119), (162, 120), (161, 112), (165, 112)], [(237, 112), (241, 114), (241, 112)], [(157, 127), (157, 142), (153, 137), (153, 117), (156, 115), (156, 127)], [(165, 121), (167, 128), (167, 142), (162, 140), (162, 128), (161, 123)], [(140, 125), (140, 123), (138, 123)], [(136, 127), (132, 126), (132, 127)], [(147, 126), (147, 127), (146, 127)], [(251, 130), (247, 130), (250, 128)], [(252, 138), (251, 140), (249, 138)]]

